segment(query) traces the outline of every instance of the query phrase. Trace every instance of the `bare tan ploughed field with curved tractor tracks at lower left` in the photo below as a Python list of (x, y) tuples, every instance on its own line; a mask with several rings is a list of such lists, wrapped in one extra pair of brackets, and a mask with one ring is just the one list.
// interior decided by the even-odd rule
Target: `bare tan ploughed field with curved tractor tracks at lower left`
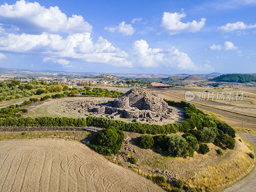
[(2, 140), (0, 145), (0, 191), (164, 191), (76, 141)]

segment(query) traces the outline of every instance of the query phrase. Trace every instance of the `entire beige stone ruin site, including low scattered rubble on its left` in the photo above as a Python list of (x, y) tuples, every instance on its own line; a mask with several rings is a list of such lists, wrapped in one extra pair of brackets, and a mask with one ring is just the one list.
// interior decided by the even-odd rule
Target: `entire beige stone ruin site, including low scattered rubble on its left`
[(57, 112), (83, 115), (102, 116), (107, 118), (127, 118), (137, 122), (173, 123), (174, 119), (183, 114), (178, 110), (168, 108), (167, 103), (157, 95), (141, 88), (133, 88), (116, 99), (84, 99), (66, 101), (66, 109), (62, 107)]

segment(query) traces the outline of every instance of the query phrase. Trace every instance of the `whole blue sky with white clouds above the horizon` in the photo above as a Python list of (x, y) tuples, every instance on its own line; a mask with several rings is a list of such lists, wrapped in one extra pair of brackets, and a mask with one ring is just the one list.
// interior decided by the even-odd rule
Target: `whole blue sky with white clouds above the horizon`
[(256, 0), (0, 4), (0, 67), (101, 73), (256, 72)]

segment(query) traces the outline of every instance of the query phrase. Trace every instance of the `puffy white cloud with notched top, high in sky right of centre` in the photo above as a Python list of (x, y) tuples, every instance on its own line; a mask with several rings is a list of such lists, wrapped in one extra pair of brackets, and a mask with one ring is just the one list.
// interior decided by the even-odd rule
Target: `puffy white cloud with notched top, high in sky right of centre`
[(179, 33), (196, 32), (204, 27), (205, 18), (202, 18), (199, 22), (193, 20), (192, 22), (183, 23), (181, 19), (185, 18), (186, 14), (182, 13), (170, 13), (164, 12), (161, 27), (164, 31), (167, 31), (170, 35)]

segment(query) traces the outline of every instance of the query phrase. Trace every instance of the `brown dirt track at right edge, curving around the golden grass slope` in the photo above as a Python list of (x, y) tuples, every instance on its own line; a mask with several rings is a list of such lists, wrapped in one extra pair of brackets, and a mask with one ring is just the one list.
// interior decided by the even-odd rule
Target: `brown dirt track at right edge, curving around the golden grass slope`
[[(256, 146), (256, 134), (239, 133)], [(229, 186), (222, 192), (256, 192), (256, 169), (254, 168), (244, 179)]]

